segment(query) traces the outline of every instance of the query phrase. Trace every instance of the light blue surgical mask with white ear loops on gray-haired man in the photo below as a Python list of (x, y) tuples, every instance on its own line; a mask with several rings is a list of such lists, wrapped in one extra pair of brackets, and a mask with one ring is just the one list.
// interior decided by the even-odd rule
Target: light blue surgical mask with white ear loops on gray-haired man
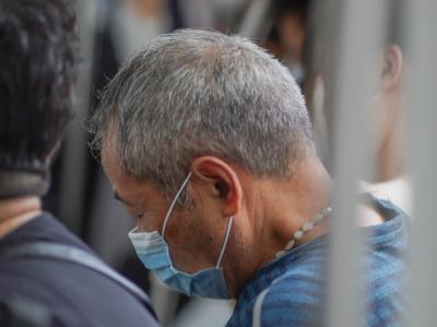
[(138, 228), (135, 228), (129, 233), (129, 238), (143, 265), (147, 269), (153, 270), (157, 277), (170, 288), (174, 288), (189, 296), (196, 295), (211, 299), (229, 299), (221, 264), (229, 239), (233, 217), (229, 217), (225, 239), (215, 267), (202, 269), (194, 274), (187, 274), (178, 270), (173, 265), (169, 247), (164, 239), (168, 219), (190, 177), (191, 172), (188, 174), (172, 202), (164, 219), (162, 233), (160, 234), (157, 231), (139, 232)]

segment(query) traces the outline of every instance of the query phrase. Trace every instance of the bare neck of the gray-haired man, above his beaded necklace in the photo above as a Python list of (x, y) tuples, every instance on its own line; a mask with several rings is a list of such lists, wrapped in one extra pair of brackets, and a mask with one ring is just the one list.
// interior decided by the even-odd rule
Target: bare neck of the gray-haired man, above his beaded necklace
[[(249, 184), (251, 192), (248, 191), (250, 196), (245, 197), (245, 207), (247, 217), (252, 218), (237, 221), (245, 223), (239, 229), (238, 239), (246, 241), (240, 242), (234, 253), (235, 258), (244, 256), (245, 261), (234, 265), (226, 276), (234, 298), (257, 270), (275, 258), (295, 231), (329, 206), (332, 187), (328, 172), (314, 156), (295, 167), (288, 180), (261, 178)], [(327, 231), (328, 228), (320, 223), (299, 242), (308, 242)]]

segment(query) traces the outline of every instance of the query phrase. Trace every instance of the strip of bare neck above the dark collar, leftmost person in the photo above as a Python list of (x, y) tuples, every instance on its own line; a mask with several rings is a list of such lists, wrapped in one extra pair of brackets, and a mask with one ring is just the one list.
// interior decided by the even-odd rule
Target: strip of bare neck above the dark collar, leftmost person
[(0, 238), (11, 233), (40, 213), (42, 203), (37, 196), (0, 201)]

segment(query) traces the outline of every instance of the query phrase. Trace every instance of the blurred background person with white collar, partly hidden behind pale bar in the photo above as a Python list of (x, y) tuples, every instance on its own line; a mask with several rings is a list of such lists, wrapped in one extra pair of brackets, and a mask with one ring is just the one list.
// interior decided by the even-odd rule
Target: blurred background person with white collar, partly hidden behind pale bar
[[(310, 31), (306, 40), (306, 70), (309, 72), (304, 89), (315, 125), (319, 154), (329, 166), (334, 137), (335, 112), (330, 106), (333, 94), (332, 57), (335, 46), (322, 38), (320, 22), (329, 13), (326, 1), (319, 4), (309, 20)], [(361, 189), (380, 198), (390, 199), (408, 214), (412, 211), (411, 181), (408, 172), (408, 137), (405, 93), (405, 58), (401, 43), (401, 1), (387, 0), (389, 16), (385, 48), (378, 58), (379, 81), (375, 95), (366, 109), (371, 110), (373, 141), (375, 142), (375, 178), (362, 181)]]

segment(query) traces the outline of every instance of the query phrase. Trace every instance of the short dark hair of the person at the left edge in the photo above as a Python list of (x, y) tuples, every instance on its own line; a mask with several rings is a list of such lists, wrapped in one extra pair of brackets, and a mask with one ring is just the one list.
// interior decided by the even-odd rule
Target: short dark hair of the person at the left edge
[(0, 0), (0, 171), (46, 171), (71, 118), (72, 7), (68, 0)]

